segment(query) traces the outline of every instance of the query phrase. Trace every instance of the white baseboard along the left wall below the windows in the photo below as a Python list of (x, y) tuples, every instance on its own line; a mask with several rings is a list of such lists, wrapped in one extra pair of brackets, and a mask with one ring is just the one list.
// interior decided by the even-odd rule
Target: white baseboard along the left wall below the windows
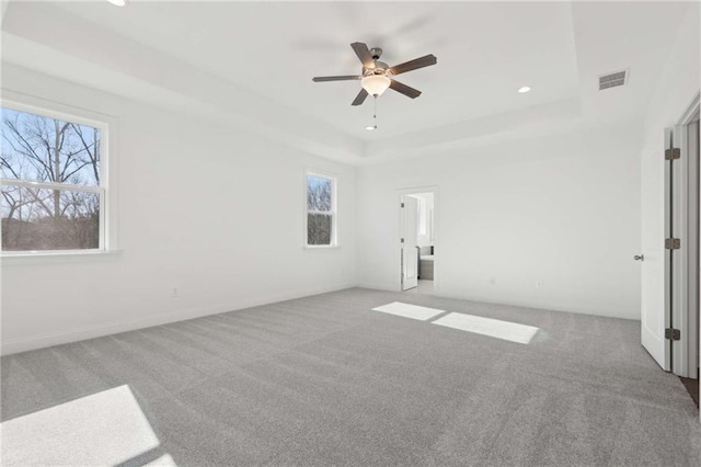
[(73, 328), (68, 331), (28, 335), (19, 339), (9, 339), (2, 341), (0, 353), (2, 355), (10, 355), (13, 353), (84, 341), (87, 339), (101, 338), (103, 335), (117, 334), (119, 332), (135, 331), (137, 329), (151, 328), (153, 326), (168, 324), (170, 322), (184, 321), (187, 319), (200, 318), (209, 315), (237, 311), (245, 308), (269, 305), (277, 301), (326, 294), (329, 292), (343, 291), (346, 288), (353, 288), (355, 286), (355, 283), (340, 284), (326, 288), (312, 288), (308, 291), (298, 291), (279, 295), (268, 295), (266, 297), (238, 301), (235, 304), (220, 304), (204, 308), (193, 308), (179, 311), (160, 311), (137, 319), (110, 321), (96, 326)]

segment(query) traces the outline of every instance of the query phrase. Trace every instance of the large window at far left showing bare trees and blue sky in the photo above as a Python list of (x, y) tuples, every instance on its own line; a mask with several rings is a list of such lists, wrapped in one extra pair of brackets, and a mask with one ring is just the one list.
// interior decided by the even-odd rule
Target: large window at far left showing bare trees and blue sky
[(3, 103), (2, 252), (105, 249), (105, 125)]

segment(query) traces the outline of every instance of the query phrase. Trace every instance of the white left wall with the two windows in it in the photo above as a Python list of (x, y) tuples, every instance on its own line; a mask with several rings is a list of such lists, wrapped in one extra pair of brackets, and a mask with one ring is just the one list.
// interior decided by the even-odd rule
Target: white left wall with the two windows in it
[[(12, 66), (2, 87), (119, 119), (122, 250), (3, 262), (3, 352), (355, 284), (355, 168)], [(306, 167), (338, 178), (338, 249), (302, 248)]]

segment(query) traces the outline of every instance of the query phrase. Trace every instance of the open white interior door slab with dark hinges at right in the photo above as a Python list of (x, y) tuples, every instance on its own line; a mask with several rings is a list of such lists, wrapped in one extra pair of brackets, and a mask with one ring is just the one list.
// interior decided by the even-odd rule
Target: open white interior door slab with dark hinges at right
[[(671, 144), (671, 132), (666, 132), (665, 148)], [(653, 358), (669, 371), (670, 345), (665, 339), (669, 326), (670, 257), (665, 238), (670, 228), (670, 162), (664, 153), (650, 151), (642, 163), (642, 309), (641, 341)]]

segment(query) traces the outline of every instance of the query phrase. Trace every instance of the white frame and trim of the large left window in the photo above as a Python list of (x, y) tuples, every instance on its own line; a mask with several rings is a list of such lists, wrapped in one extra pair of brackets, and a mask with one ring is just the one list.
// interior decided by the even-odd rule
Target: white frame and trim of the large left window
[(48, 118), (62, 119), (70, 123), (87, 125), (100, 129), (100, 185), (84, 186), (71, 183), (42, 182), (24, 179), (5, 179), (0, 178), (1, 185), (25, 186), (33, 189), (47, 189), (60, 191), (78, 191), (85, 193), (97, 193), (100, 196), (100, 228), (99, 228), (99, 246), (93, 249), (79, 250), (24, 250), (24, 251), (4, 251), (0, 247), (0, 258), (3, 264), (13, 263), (13, 259), (25, 262), (30, 258), (88, 258), (104, 254), (114, 254), (117, 252), (116, 241), (116, 194), (114, 193), (114, 170), (113, 155), (115, 150), (115, 138), (117, 119), (115, 117), (87, 111), (83, 109), (61, 104), (53, 101), (46, 101), (26, 94), (16, 93), (10, 90), (2, 90), (0, 99), (0, 107), (10, 109), (16, 112), (30, 113)]

